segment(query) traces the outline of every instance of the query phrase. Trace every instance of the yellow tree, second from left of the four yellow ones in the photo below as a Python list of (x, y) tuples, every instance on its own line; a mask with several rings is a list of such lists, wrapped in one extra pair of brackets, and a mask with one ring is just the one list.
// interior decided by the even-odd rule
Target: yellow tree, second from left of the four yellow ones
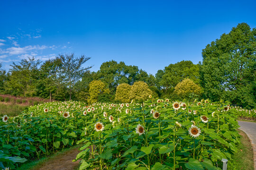
[(117, 87), (115, 100), (120, 102), (130, 102), (129, 93), (131, 86), (127, 83), (122, 83)]

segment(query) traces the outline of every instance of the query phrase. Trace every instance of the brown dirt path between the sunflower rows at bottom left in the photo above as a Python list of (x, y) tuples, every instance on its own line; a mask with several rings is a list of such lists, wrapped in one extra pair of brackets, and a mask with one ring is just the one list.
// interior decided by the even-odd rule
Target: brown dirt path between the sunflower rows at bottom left
[(56, 155), (54, 159), (40, 165), (37, 170), (76, 170), (79, 167), (79, 161), (73, 162), (73, 159), (76, 158), (79, 152), (81, 152), (79, 148), (74, 148)]

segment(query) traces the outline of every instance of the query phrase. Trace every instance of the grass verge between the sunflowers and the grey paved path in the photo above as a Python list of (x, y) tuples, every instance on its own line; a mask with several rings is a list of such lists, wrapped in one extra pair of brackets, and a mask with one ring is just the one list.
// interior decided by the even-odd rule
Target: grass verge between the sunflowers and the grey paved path
[(241, 144), (238, 152), (233, 155), (233, 161), (228, 162), (228, 170), (254, 170), (253, 148), (245, 132), (238, 129)]

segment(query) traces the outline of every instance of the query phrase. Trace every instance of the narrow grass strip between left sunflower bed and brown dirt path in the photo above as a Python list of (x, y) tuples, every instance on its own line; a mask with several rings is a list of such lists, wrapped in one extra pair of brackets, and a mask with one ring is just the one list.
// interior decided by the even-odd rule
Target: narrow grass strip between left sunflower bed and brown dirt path
[[(70, 147), (70, 148), (65, 148), (62, 151), (58, 151), (57, 153), (55, 153), (54, 155), (51, 155), (49, 157), (43, 157), (43, 158), (40, 158), (40, 159), (34, 160), (34, 161), (27, 161), (27, 162), (23, 163), (20, 167), (18, 167), (17, 170), (37, 170), (37, 169), (41, 168), (47, 161), (57, 159), (57, 157), (59, 155), (64, 154), (72, 149), (80, 148), (81, 146), (82, 146), (82, 144), (78, 144), (78, 145)], [(76, 170), (79, 170), (79, 167)]]

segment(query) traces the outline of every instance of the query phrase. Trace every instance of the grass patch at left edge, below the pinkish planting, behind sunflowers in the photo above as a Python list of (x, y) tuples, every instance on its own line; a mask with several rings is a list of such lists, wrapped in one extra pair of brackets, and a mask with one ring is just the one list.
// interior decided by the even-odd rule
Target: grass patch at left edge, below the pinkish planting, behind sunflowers
[(18, 104), (1, 104), (0, 103), (0, 116), (7, 115), (9, 117), (17, 116), (23, 110), (25, 110), (27, 106), (22, 106)]

